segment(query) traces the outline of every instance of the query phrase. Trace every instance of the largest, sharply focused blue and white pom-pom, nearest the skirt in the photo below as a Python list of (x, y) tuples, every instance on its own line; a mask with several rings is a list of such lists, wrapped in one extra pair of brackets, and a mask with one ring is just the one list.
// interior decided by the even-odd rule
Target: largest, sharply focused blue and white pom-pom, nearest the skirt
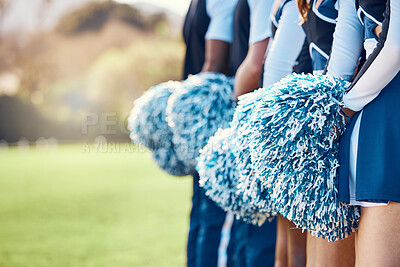
[(289, 75), (268, 90), (252, 114), (251, 160), (274, 207), (296, 226), (329, 241), (347, 237), (359, 210), (338, 201), (338, 134), (346, 82)]

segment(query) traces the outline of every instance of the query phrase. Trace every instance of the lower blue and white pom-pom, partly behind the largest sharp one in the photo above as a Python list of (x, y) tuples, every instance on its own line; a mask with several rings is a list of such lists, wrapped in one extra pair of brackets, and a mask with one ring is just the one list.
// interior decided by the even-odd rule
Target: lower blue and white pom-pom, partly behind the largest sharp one
[[(251, 110), (265, 95), (256, 90), (239, 98), (230, 128), (218, 130), (200, 150), (197, 170), (206, 195), (237, 219), (262, 225), (275, 211), (266, 201), (261, 183), (252, 177), (246, 133)], [(240, 175), (239, 167), (243, 168)], [(253, 177), (252, 177), (253, 178)]]

